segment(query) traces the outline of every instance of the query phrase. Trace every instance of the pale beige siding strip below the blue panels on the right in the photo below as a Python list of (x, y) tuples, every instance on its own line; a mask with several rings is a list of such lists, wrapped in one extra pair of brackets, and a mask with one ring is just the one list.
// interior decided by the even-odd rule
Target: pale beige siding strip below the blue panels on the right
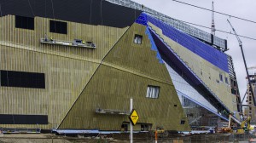
[(225, 81), (221, 82), (219, 79), (219, 74), (223, 75), (223, 80), (224, 77), (230, 77), (229, 72), (224, 72), (217, 66), (212, 65), (209, 61), (204, 60), (199, 55), (173, 41), (171, 38), (166, 37), (157, 26), (154, 26), (151, 23), (149, 23), (149, 26), (151, 26), (152, 29), (165, 41), (165, 43), (167, 43), (172, 50), (177, 53), (183, 62), (186, 63), (193, 72), (195, 72), (197, 77), (199, 77), (203, 83), (205, 83), (207, 87), (224, 102), (224, 105), (227, 106), (230, 111), (237, 111), (237, 107), (235, 106), (236, 103), (233, 102), (233, 99), (236, 98), (236, 96), (231, 94), (230, 85), (226, 84)]

